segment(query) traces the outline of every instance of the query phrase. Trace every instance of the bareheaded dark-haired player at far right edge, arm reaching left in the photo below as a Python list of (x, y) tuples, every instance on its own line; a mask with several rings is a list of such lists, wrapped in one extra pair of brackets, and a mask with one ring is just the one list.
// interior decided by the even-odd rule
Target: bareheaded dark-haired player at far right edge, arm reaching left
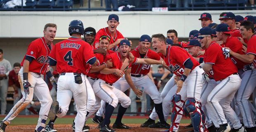
[(239, 54), (230, 50), (230, 55), (243, 61), (249, 63), (247, 66), (247, 71), (242, 74), (242, 83), (237, 92), (237, 104), (243, 115), (243, 123), (247, 132), (255, 132), (254, 121), (251, 118), (251, 105), (248, 101), (250, 95), (255, 90), (256, 82), (256, 50), (255, 50), (255, 40), (256, 35), (254, 35), (254, 24), (251, 21), (242, 21), (240, 24), (240, 32), (244, 39), (247, 39), (247, 54)]

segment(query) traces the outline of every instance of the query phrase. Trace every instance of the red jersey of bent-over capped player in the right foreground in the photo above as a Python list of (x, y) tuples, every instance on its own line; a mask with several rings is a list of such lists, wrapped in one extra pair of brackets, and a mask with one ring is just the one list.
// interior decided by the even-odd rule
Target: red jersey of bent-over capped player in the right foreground
[(237, 73), (237, 67), (230, 58), (225, 59), (221, 48), (216, 42), (211, 42), (204, 53), (204, 62), (206, 64), (213, 64), (213, 79), (216, 81)]

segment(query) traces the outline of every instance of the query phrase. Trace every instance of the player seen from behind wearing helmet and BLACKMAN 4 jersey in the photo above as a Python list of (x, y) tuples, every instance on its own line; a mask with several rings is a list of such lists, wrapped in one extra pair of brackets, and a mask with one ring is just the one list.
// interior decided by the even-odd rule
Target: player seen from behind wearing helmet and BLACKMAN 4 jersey
[(57, 101), (53, 102), (49, 112), (50, 120), (55, 116), (66, 115), (72, 96), (76, 102), (77, 115), (75, 131), (82, 132), (85, 124), (87, 87), (86, 64), (95, 64), (97, 59), (91, 46), (81, 40), (84, 28), (80, 20), (73, 20), (69, 24), (71, 38), (58, 42), (50, 53), (50, 66), (60, 74), (58, 79)]

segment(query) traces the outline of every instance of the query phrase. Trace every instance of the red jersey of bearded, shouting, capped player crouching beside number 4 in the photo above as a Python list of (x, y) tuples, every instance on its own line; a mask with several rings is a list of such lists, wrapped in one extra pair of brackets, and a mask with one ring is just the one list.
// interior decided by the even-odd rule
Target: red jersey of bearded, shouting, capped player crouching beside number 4
[[(121, 69), (123, 63), (122, 63), (122, 60), (121, 60), (121, 54), (120, 52), (116, 52), (116, 53), (112, 53), (112, 54), (108, 54), (104, 61), (103, 62), (106, 62), (107, 60), (109, 59), (112, 59), (112, 62), (113, 62), (113, 66), (111, 67), (111, 69)], [(137, 58), (134, 57), (134, 61), (136, 60)], [(133, 63), (134, 63), (133, 61)], [(119, 80), (119, 76), (117, 76), (116, 74), (112, 73), (112, 74), (101, 74), (99, 73), (98, 74), (98, 78), (104, 80), (105, 82), (107, 83), (114, 83), (116, 82), (117, 80)]]

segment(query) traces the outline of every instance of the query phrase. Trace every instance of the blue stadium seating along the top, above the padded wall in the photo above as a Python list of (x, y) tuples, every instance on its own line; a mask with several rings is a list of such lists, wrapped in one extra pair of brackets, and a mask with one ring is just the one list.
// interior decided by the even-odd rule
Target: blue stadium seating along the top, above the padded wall
[[(17, 2), (21, 5), (7, 8), (7, 2)], [(25, 5), (23, 5), (23, 1)], [(26, 1), (26, 2), (25, 2)], [(131, 0), (119, 0), (118, 6), (131, 5)], [(176, 8), (176, 0), (159, 0), (159, 7), (167, 7), (168, 11), (174, 10), (244, 10), (253, 9), (248, 0), (189, 0), (189, 7)], [(140, 4), (130, 10), (152, 11), (152, 0), (140, 0)], [(0, 11), (77, 11), (101, 10), (105, 11), (104, 0), (0, 0)]]

